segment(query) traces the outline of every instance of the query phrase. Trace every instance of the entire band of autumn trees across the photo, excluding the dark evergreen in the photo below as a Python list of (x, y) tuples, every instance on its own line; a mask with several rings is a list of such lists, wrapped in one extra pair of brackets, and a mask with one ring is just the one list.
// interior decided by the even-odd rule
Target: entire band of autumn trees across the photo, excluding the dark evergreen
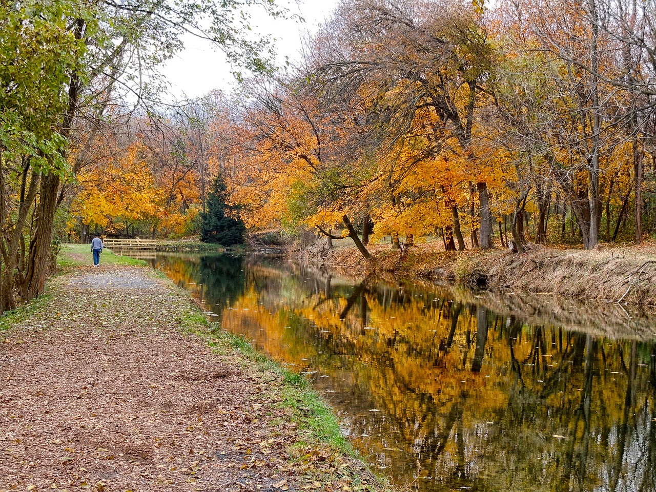
[[(287, 15), (0, 7), (1, 309), (41, 291), (53, 234), (199, 234), (217, 176), (245, 226), (361, 233), (365, 256), (371, 226), (518, 251), (656, 227), (653, 2), (344, 0), (285, 71), (244, 28), (253, 8)], [(226, 51), (238, 92), (155, 104), (184, 33)]]

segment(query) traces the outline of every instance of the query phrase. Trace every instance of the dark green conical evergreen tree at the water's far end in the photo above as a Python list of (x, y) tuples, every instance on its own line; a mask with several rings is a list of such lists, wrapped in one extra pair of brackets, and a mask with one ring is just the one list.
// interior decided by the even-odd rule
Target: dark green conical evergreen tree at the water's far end
[[(212, 190), (207, 196), (207, 208), (201, 214), (201, 241), (203, 243), (219, 243), (223, 246), (232, 246), (244, 243), (246, 226), (236, 215), (237, 207), (226, 203), (226, 184), (220, 174), (212, 184)], [(231, 213), (232, 212), (232, 213)]]

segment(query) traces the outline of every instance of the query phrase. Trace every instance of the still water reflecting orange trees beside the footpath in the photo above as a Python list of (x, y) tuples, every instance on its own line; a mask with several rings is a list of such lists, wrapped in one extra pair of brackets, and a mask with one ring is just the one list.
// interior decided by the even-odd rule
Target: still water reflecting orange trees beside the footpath
[(158, 255), (216, 321), (312, 379), (417, 491), (655, 491), (656, 319), (609, 304), (358, 283), (275, 258)]

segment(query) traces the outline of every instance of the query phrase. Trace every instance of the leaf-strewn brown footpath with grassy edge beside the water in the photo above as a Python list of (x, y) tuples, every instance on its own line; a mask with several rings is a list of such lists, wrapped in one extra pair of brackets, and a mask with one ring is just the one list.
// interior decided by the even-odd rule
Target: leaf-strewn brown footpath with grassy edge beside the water
[(391, 490), (329, 439), (302, 377), (184, 291), (138, 266), (68, 270), (0, 319), (0, 491)]

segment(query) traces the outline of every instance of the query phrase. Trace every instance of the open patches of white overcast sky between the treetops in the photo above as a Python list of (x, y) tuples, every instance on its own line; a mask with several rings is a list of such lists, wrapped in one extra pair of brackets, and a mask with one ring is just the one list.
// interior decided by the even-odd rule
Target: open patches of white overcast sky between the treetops
[[(260, 22), (258, 28), (262, 33), (269, 33), (276, 38), (277, 60), (282, 64), (285, 55), (290, 61), (298, 60), (302, 39), (308, 32), (316, 32), (318, 26), (329, 18), (337, 7), (338, 0), (290, 0), (289, 4), (278, 0), (277, 3), (287, 5), (291, 12), (300, 14), (306, 20), (300, 23), (266, 18)], [(253, 17), (255, 18), (255, 14)], [(256, 20), (253, 22), (255, 24)], [(230, 90), (234, 85), (234, 78), (230, 73), (230, 65), (221, 52), (196, 37), (186, 39), (185, 47), (184, 51), (167, 62), (162, 70), (171, 84), (171, 92), (175, 98), (196, 98), (213, 89)]]

